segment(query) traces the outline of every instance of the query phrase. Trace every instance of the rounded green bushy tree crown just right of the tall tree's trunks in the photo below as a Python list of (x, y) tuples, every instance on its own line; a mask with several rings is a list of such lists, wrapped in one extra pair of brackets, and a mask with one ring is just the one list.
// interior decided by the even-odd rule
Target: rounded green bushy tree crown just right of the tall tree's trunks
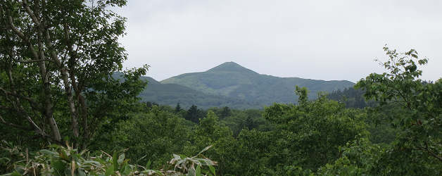
[(168, 161), (172, 153), (182, 151), (190, 130), (183, 118), (153, 106), (149, 113), (131, 115), (128, 120), (118, 122), (113, 132), (96, 138), (91, 149), (114, 151), (128, 148), (127, 158), (134, 163), (152, 161), (152, 166), (158, 167)]

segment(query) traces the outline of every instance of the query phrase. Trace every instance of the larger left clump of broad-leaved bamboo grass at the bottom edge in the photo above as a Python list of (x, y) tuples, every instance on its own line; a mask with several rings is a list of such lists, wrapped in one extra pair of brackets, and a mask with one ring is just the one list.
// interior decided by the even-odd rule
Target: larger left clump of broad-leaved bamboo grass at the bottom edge
[(13, 163), (9, 175), (134, 175), (137, 166), (130, 165), (125, 154), (115, 152), (113, 156), (102, 153), (90, 157), (87, 151), (77, 151), (71, 146), (51, 146), (23, 157), (25, 161)]

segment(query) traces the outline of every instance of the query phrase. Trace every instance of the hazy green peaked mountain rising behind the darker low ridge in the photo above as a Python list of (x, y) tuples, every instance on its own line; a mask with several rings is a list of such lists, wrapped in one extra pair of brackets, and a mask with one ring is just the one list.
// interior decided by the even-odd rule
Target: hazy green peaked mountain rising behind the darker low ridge
[(185, 73), (161, 81), (162, 84), (179, 84), (198, 92), (226, 96), (262, 105), (296, 103), (295, 86), (307, 87), (310, 99), (318, 92), (333, 92), (353, 86), (349, 81), (308, 80), (298, 77), (260, 75), (234, 62), (227, 62), (201, 73)]

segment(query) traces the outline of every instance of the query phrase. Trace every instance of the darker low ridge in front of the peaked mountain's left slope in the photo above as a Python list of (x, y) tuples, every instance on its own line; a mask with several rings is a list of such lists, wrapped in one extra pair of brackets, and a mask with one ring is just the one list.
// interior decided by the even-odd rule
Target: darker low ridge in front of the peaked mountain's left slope
[(179, 84), (162, 84), (152, 77), (141, 77), (141, 79), (148, 81), (146, 89), (139, 94), (142, 101), (151, 101), (172, 107), (179, 103), (182, 108), (189, 108), (191, 105), (196, 105), (198, 108), (223, 106), (239, 109), (263, 108), (259, 103), (248, 102), (243, 99), (205, 94)]

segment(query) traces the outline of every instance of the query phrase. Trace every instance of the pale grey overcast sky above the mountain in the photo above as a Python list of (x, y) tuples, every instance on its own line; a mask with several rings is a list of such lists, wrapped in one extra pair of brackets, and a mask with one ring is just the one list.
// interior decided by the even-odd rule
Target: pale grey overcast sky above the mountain
[(384, 70), (382, 47), (429, 58), (442, 77), (441, 0), (130, 0), (125, 67), (156, 80), (227, 61), (265, 75), (356, 82)]

